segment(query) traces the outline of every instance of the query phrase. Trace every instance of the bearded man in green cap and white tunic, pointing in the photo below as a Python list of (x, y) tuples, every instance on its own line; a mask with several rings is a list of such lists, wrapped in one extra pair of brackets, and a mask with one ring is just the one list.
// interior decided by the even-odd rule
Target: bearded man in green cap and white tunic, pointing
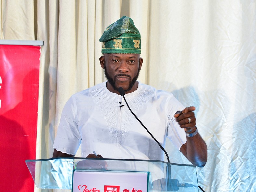
[(164, 160), (164, 153), (129, 111), (118, 88), (151, 134), (164, 146), (166, 138), (194, 165), (207, 162), (207, 146), (196, 128), (195, 107), (184, 108), (171, 93), (137, 81), (143, 59), (140, 33), (123, 16), (100, 38), (99, 58), (107, 82), (74, 94), (66, 103), (54, 141), (53, 157)]

